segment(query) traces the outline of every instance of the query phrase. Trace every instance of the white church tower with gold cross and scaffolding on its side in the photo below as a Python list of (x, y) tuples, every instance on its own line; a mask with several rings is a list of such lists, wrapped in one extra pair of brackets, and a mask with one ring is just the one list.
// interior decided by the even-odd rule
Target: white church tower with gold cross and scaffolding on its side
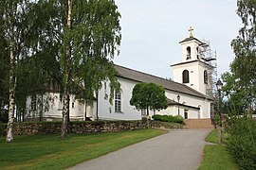
[(182, 49), (182, 61), (171, 65), (174, 70), (174, 81), (185, 84), (199, 93), (212, 97), (213, 72), (216, 53), (211, 52), (210, 45), (192, 36), (179, 42)]

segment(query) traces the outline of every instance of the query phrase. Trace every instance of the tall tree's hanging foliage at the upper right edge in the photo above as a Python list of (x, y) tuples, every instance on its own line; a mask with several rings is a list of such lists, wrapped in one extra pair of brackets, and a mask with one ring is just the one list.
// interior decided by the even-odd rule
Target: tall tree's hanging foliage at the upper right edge
[(240, 91), (247, 99), (247, 105), (255, 106), (256, 98), (256, 1), (238, 0), (237, 14), (241, 18), (243, 27), (239, 36), (231, 42), (235, 59), (230, 69), (240, 82)]

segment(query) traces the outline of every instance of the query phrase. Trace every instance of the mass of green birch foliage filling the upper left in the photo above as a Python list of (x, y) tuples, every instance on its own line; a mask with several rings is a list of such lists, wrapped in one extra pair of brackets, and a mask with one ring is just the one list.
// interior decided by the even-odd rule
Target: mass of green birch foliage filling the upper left
[[(19, 112), (26, 110), (27, 95), (46, 90), (92, 99), (109, 82), (110, 100), (119, 91), (113, 66), (121, 39), (118, 7), (113, 0), (69, 2), (70, 26), (67, 1), (0, 1), (1, 110), (8, 105), (11, 86)], [(9, 75), (15, 83), (9, 83)]]

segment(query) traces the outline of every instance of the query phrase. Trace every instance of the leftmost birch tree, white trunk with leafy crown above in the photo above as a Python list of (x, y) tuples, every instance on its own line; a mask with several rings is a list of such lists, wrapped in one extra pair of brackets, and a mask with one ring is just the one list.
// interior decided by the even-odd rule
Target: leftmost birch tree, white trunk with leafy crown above
[(7, 51), (9, 58), (9, 122), (7, 128), (7, 142), (13, 141), (12, 127), (15, 110), (15, 90), (17, 85), (17, 64), (19, 60), (28, 54), (27, 35), (29, 34), (29, 12), (32, 3), (26, 0), (1, 1), (1, 30), (3, 39), (6, 43), (2, 50)]

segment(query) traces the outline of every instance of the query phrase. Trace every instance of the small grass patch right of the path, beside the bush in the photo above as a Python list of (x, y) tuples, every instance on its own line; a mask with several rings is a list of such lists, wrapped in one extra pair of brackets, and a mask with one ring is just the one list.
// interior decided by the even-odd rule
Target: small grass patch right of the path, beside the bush
[(206, 145), (204, 149), (204, 161), (198, 170), (238, 170), (238, 166), (232, 156), (226, 150), (225, 145), (218, 145), (218, 130), (213, 129), (206, 138), (207, 142), (213, 143)]

